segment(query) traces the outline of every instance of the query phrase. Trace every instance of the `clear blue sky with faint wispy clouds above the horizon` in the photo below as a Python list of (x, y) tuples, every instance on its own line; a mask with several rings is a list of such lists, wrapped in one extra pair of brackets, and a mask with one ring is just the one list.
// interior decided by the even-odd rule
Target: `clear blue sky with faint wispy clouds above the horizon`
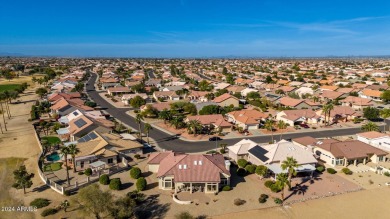
[(389, 0), (9, 0), (0, 54), (390, 55)]

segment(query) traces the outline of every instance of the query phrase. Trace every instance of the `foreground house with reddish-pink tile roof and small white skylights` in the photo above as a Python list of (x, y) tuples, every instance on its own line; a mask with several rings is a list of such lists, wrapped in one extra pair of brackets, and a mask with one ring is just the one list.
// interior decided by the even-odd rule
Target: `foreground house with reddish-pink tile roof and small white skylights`
[(183, 154), (155, 152), (147, 161), (149, 171), (156, 173), (163, 190), (194, 190), (217, 193), (230, 184), (230, 162), (222, 154)]

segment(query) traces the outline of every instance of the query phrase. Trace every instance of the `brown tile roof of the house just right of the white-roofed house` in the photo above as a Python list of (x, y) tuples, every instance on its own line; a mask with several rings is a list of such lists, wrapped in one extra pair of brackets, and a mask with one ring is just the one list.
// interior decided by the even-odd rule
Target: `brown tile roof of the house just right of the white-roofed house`
[(318, 147), (331, 152), (337, 158), (356, 159), (367, 157), (369, 154), (387, 155), (387, 152), (358, 140), (320, 144)]

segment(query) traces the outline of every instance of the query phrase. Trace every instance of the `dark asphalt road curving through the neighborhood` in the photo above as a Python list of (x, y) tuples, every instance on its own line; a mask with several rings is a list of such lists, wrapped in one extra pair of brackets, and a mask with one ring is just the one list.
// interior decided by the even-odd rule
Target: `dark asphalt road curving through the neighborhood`
[[(116, 108), (113, 107), (110, 103), (108, 103), (104, 98), (102, 98), (99, 93), (95, 90), (95, 81), (97, 79), (97, 75), (92, 73), (91, 77), (88, 80), (88, 84), (86, 86), (87, 93), (90, 98), (95, 101), (98, 105), (103, 108), (106, 108), (106, 111), (110, 113), (112, 116), (122, 121), (124, 124), (132, 127), (134, 130), (138, 130), (138, 124), (135, 122), (134, 118), (126, 114), (126, 112), (130, 108)], [(386, 121), (388, 122), (388, 121)], [(381, 126), (383, 128), (383, 126)], [(323, 137), (333, 137), (333, 136), (342, 136), (342, 135), (353, 135), (361, 132), (360, 128), (349, 128), (349, 129), (330, 129), (325, 131), (312, 131), (312, 132), (297, 132), (290, 134), (283, 134), (284, 139), (298, 138), (303, 136), (312, 136), (314, 138), (323, 138)], [(196, 152), (204, 152), (213, 150), (216, 148), (216, 142), (210, 141), (185, 141), (182, 139), (178, 139), (174, 135), (167, 134), (159, 129), (155, 128), (150, 131), (150, 137), (153, 138), (158, 146), (162, 149), (166, 150), (174, 150), (181, 151), (187, 153), (196, 153)], [(249, 138), (255, 142), (266, 143), (271, 141), (271, 136), (245, 136), (243, 138)], [(235, 139), (224, 139), (222, 141), (218, 141), (217, 143), (226, 143), (228, 145), (233, 145), (240, 141), (243, 138), (235, 138)], [(280, 135), (275, 134), (274, 139), (279, 140)]]

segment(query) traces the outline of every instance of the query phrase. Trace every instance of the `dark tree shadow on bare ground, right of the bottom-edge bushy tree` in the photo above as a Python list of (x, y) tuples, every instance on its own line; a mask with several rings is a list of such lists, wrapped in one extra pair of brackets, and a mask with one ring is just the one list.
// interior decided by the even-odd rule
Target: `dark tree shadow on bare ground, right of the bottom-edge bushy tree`
[(150, 195), (141, 205), (137, 206), (135, 209), (136, 218), (165, 218), (171, 204), (160, 204), (159, 196)]

